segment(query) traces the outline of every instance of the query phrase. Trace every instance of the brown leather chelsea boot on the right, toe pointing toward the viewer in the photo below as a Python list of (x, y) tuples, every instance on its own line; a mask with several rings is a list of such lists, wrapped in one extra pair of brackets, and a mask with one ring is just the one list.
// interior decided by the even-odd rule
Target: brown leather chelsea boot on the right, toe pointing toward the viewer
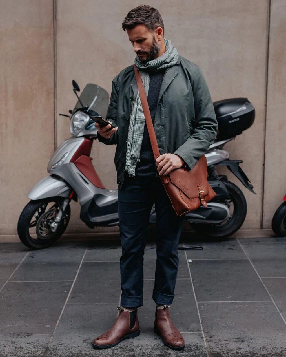
[(154, 332), (161, 336), (164, 344), (172, 350), (183, 350), (185, 348), (183, 336), (171, 320), (167, 305), (164, 305), (161, 309), (156, 309)]

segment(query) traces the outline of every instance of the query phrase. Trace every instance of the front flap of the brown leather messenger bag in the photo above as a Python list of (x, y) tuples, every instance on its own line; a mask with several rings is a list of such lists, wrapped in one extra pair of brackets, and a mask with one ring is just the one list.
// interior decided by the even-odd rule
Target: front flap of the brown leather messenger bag
[(202, 155), (192, 170), (176, 169), (169, 173), (170, 181), (188, 198), (199, 197), (198, 186), (208, 195), (207, 159)]

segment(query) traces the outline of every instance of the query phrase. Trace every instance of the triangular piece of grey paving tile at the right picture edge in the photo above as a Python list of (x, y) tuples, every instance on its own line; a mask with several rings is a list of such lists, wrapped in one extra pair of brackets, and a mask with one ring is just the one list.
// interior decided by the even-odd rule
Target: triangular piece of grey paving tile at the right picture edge
[(286, 320), (286, 278), (264, 278), (262, 281)]

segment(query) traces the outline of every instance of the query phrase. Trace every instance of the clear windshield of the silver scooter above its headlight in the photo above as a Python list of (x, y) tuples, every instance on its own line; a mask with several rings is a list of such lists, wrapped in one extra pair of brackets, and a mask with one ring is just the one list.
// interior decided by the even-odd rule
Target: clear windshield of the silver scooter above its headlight
[[(105, 118), (109, 104), (109, 94), (105, 89), (96, 84), (88, 83), (79, 98), (83, 106), (88, 105), (88, 110), (93, 110), (96, 113), (94, 115), (100, 115)], [(82, 108), (79, 101), (77, 101), (75, 108)]]

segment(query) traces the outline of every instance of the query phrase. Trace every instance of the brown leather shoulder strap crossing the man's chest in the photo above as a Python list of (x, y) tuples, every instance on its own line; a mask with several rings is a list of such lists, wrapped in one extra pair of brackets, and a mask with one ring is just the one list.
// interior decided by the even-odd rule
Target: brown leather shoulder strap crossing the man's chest
[(148, 134), (149, 134), (150, 141), (151, 141), (153, 154), (154, 154), (155, 159), (157, 159), (157, 157), (160, 156), (160, 151), (159, 151), (159, 147), (158, 147), (158, 143), (157, 143), (154, 127), (153, 127), (153, 122), (152, 122), (152, 118), (151, 118), (151, 114), (150, 114), (150, 110), (149, 110), (149, 105), (147, 102), (144, 85), (143, 85), (140, 73), (138, 72), (138, 69), (135, 65), (134, 65), (134, 71), (135, 71), (138, 92), (139, 92), (139, 96), (141, 99), (141, 104), (142, 104), (142, 108), (143, 108), (143, 112), (144, 112), (144, 116), (145, 116), (145, 121), (146, 121)]

